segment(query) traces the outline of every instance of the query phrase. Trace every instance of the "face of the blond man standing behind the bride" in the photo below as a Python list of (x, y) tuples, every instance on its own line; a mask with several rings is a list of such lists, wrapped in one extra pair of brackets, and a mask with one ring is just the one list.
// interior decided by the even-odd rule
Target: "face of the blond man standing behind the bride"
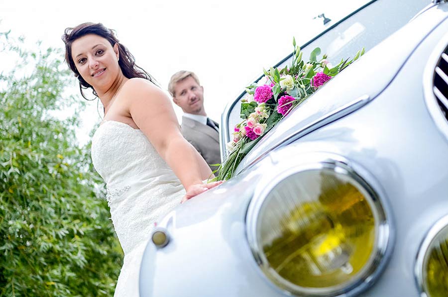
[(176, 83), (173, 100), (185, 113), (205, 115), (204, 88), (191, 76)]

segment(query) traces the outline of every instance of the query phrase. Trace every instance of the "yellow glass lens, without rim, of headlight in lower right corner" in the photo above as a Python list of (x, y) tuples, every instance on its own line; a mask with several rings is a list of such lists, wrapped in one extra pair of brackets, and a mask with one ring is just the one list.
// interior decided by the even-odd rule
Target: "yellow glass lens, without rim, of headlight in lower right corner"
[(431, 240), (423, 260), (423, 288), (430, 297), (448, 294), (448, 226)]

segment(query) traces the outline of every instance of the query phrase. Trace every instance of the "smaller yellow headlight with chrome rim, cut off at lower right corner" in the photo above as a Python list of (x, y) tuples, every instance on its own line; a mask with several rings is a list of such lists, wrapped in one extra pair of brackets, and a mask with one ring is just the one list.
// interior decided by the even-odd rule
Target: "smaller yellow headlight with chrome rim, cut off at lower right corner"
[(417, 256), (416, 280), (421, 296), (445, 297), (448, 292), (448, 215), (423, 240)]

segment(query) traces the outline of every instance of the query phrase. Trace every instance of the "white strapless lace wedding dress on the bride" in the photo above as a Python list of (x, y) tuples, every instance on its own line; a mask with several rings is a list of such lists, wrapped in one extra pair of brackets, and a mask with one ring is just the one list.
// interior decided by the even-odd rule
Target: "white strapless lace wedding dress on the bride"
[(140, 260), (154, 222), (185, 190), (146, 136), (106, 121), (92, 139), (92, 161), (107, 185), (112, 223), (124, 252), (114, 297), (138, 297)]

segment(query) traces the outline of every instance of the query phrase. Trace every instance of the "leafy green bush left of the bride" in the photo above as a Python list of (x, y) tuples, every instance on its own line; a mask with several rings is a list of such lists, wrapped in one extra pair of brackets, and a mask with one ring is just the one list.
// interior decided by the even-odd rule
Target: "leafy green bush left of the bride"
[(0, 75), (0, 296), (112, 296), (122, 252), (90, 144), (76, 142), (83, 102), (60, 50), (23, 47), (0, 33), (18, 58)]

